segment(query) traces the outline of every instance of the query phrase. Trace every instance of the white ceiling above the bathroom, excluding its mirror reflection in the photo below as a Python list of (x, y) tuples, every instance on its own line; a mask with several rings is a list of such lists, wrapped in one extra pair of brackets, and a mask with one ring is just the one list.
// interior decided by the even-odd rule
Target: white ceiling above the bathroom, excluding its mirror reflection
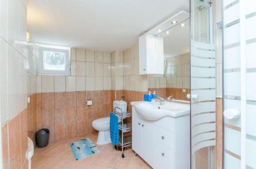
[(181, 10), (188, 0), (29, 0), (28, 31), (36, 43), (124, 50)]

